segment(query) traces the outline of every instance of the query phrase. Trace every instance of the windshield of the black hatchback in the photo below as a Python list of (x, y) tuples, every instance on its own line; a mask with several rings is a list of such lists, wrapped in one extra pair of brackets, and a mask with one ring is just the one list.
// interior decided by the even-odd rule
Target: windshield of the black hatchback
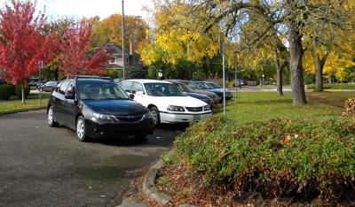
[(112, 82), (79, 82), (78, 92), (82, 100), (129, 99), (127, 94)]

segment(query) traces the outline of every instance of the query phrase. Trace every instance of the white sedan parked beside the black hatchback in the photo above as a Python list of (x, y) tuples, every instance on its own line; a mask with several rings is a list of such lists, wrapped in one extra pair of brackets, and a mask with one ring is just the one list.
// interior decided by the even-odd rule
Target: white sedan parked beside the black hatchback
[(119, 86), (134, 94), (134, 100), (151, 111), (155, 125), (192, 122), (212, 115), (209, 104), (185, 96), (182, 90), (168, 81), (123, 80)]

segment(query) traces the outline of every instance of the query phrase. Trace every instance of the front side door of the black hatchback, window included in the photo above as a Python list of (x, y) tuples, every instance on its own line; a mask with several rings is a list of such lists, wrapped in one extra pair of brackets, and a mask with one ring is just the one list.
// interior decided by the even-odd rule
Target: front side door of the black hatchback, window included
[[(75, 82), (70, 81), (69, 86), (67, 87), (66, 94), (73, 94), (75, 95)], [(76, 98), (76, 97), (75, 97)], [(67, 123), (67, 126), (69, 127), (75, 127), (75, 98), (74, 99), (68, 99), (65, 97), (64, 103), (63, 103), (63, 119), (64, 122)]]

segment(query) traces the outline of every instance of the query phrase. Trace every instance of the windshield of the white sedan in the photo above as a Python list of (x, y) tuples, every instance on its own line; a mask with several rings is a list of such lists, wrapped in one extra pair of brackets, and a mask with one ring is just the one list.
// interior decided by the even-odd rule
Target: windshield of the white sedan
[(170, 83), (145, 83), (148, 96), (185, 96), (184, 92), (174, 84)]

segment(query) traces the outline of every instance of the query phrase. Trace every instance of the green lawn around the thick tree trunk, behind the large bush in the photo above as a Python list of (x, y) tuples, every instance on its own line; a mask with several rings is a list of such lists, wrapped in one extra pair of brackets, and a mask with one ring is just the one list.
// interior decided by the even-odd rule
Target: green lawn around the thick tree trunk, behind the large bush
[[(343, 101), (355, 96), (347, 92), (307, 93), (306, 105), (294, 105), (292, 96), (276, 93), (240, 93), (239, 102), (227, 103), (227, 117), (241, 124), (253, 120), (305, 119), (307, 121), (340, 118)], [(221, 114), (221, 109), (219, 114)]]

